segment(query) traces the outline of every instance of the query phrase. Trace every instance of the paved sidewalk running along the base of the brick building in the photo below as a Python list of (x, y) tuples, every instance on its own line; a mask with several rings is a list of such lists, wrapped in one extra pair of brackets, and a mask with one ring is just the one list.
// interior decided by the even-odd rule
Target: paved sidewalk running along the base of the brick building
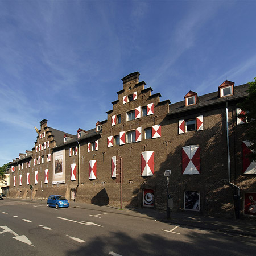
[[(5, 199), (14, 201), (31, 201), (29, 199)], [(36, 203), (46, 204), (46, 200), (33, 200)], [(109, 212), (114, 214), (123, 214), (137, 218), (147, 218), (150, 220), (162, 221), (174, 225), (191, 226), (193, 228), (214, 230), (230, 234), (239, 234), (241, 236), (256, 237), (256, 220), (235, 220), (216, 217), (204, 217), (191, 212), (171, 212), (171, 218), (167, 219), (166, 212), (160, 212), (151, 208), (126, 208), (122, 210), (118, 207), (109, 205), (94, 205), (71, 201), (69, 207), (88, 210), (97, 210), (98, 212)]]

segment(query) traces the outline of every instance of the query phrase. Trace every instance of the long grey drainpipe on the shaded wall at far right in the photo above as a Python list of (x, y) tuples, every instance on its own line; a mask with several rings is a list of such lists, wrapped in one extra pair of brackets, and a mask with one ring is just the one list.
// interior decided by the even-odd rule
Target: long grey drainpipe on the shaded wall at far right
[(235, 214), (236, 214), (236, 218), (240, 218), (240, 187), (238, 187), (237, 185), (231, 183), (231, 178), (230, 178), (230, 173), (231, 173), (231, 169), (230, 169), (230, 151), (229, 151), (229, 113), (228, 113), (228, 101), (226, 101), (226, 146), (227, 146), (227, 153), (228, 153), (228, 182), (229, 185), (233, 188), (237, 189), (237, 195), (233, 195), (234, 196), (234, 200), (236, 201), (235, 205)]

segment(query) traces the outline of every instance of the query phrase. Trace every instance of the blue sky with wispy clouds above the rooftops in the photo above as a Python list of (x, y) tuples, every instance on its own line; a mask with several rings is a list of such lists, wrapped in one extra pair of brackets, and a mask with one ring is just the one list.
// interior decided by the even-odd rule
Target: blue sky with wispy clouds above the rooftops
[(107, 118), (122, 77), (172, 103), (256, 77), (256, 1), (0, 0), (0, 166), (34, 126), (76, 134)]

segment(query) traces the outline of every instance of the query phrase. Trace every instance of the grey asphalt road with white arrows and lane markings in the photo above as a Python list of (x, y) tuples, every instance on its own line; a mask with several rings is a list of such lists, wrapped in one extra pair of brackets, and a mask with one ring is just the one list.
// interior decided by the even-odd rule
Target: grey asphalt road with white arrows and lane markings
[(0, 255), (255, 255), (255, 238), (79, 208), (0, 201)]

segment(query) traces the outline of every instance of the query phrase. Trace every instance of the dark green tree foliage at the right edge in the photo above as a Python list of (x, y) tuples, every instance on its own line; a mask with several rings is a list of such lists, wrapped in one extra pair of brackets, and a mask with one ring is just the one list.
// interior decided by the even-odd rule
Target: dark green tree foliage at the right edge
[(245, 114), (247, 119), (246, 125), (249, 126), (247, 129), (247, 139), (251, 141), (250, 150), (253, 151), (251, 159), (256, 160), (256, 77), (253, 82), (249, 82), (248, 97), (239, 105)]

